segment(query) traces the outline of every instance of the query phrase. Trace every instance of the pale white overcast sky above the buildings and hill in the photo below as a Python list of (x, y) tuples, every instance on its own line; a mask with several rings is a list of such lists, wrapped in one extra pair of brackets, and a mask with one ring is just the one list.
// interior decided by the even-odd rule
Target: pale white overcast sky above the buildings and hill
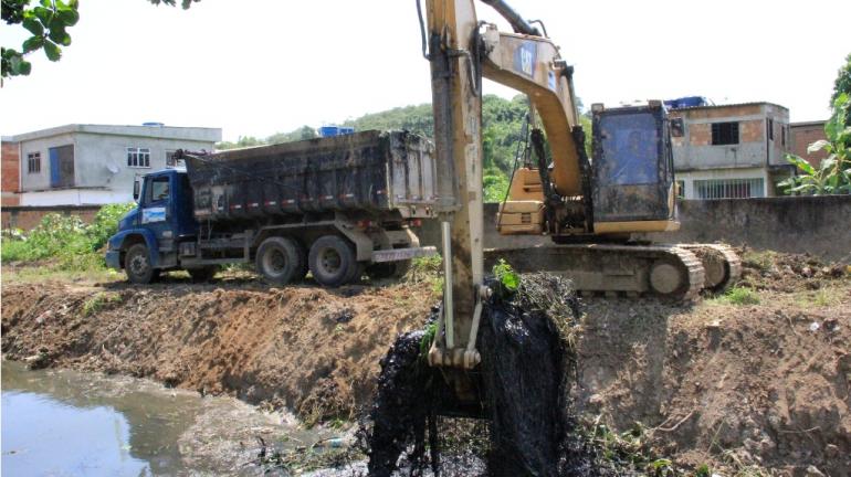
[[(587, 106), (701, 95), (824, 119), (851, 52), (848, 0), (509, 3), (544, 20)], [(0, 89), (0, 134), (160, 121), (235, 140), (431, 100), (414, 0), (83, 0), (80, 12), (60, 62), (32, 54), (32, 74)], [(0, 44), (23, 39), (2, 24)], [(513, 96), (493, 83), (485, 93)]]

